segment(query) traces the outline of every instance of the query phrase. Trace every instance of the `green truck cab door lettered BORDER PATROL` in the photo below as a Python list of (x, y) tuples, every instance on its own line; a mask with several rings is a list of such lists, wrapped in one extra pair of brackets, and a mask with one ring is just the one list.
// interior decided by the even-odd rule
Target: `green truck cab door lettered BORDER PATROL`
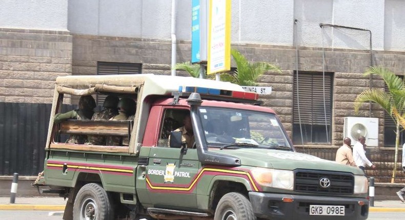
[(161, 110), (156, 147), (149, 151), (146, 188), (154, 207), (190, 210), (197, 207), (195, 180), (200, 163), (196, 149), (182, 153), (181, 148), (169, 147), (170, 131), (183, 126), (182, 117), (190, 114), (188, 108), (175, 107)]

